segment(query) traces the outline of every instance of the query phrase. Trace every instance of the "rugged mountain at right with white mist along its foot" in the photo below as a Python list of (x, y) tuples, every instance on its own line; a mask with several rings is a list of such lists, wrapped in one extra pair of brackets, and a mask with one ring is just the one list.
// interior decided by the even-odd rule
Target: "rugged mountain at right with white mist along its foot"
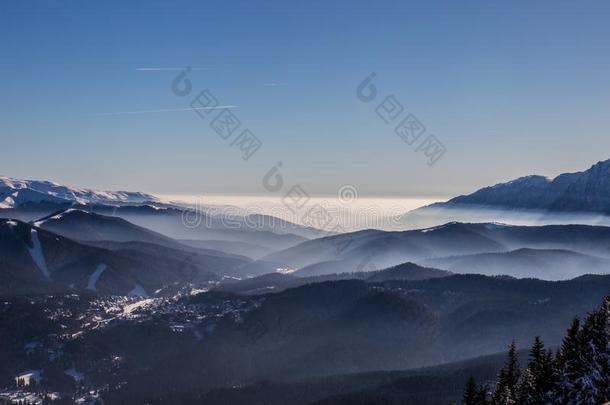
[(468, 195), (409, 211), (405, 229), (447, 222), (504, 222), (515, 225), (610, 226), (610, 160), (555, 178), (525, 176)]

